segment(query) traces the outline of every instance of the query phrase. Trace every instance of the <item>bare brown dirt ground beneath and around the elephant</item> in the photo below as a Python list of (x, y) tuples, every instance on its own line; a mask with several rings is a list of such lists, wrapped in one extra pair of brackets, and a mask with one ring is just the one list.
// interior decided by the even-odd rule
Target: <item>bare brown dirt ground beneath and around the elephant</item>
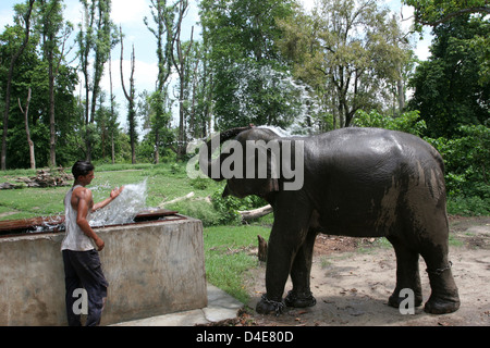
[[(265, 289), (265, 264), (248, 274), (248, 309), (235, 325), (402, 325), (490, 326), (490, 217), (451, 219), (450, 260), (460, 290), (461, 308), (455, 313), (401, 314), (388, 306), (395, 287), (395, 257), (391, 245), (376, 239), (320, 235), (315, 247), (311, 290), (317, 304), (306, 309), (286, 308), (280, 316), (255, 312)], [(420, 258), (424, 302), (430, 296), (426, 265)], [(285, 291), (292, 288), (286, 284)], [(285, 294), (286, 294), (285, 293)], [(284, 294), (284, 296), (285, 296)]]

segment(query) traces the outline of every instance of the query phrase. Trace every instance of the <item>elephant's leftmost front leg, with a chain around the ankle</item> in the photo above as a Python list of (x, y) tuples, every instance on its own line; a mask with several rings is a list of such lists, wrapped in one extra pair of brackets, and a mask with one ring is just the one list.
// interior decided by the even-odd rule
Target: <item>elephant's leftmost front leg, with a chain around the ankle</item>
[[(296, 206), (298, 207), (298, 206)], [(301, 206), (299, 206), (301, 207)], [(282, 295), (291, 266), (308, 232), (309, 214), (274, 210), (274, 225), (269, 238), (266, 269), (267, 294), (257, 303), (260, 314), (280, 314), (284, 302)]]

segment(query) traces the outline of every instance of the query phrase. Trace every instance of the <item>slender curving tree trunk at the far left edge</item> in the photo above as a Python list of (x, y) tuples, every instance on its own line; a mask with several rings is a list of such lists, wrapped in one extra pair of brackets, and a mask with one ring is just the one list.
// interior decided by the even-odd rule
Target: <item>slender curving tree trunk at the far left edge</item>
[(33, 7), (34, 7), (35, 0), (28, 0), (27, 4), (24, 7), (16, 7), (16, 18), (17, 25), (25, 26), (24, 30), (24, 38), (22, 40), (22, 44), (15, 51), (15, 53), (12, 54), (10, 60), (10, 66), (9, 72), (7, 76), (7, 87), (5, 87), (5, 104), (4, 104), (4, 111), (3, 111), (3, 135), (2, 135), (2, 152), (1, 152), (1, 170), (4, 171), (7, 169), (7, 133), (9, 129), (9, 112), (10, 112), (10, 97), (11, 97), (11, 88), (12, 88), (12, 76), (13, 76), (13, 70), (15, 66), (15, 62), (17, 61), (19, 57), (21, 57), (22, 52), (25, 50), (28, 41), (29, 41), (29, 35), (30, 35), (30, 15), (33, 13)]

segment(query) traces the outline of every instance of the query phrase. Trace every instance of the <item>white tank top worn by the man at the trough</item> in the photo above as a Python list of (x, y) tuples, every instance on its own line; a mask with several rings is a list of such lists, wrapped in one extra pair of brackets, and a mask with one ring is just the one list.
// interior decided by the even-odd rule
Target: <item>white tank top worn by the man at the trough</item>
[[(65, 236), (61, 243), (61, 250), (88, 251), (95, 249), (94, 240), (84, 234), (76, 224), (76, 210), (72, 207), (73, 190), (82, 185), (73, 186), (64, 196), (64, 226)], [(90, 211), (88, 212), (88, 215)], [(87, 220), (88, 219), (87, 215)]]

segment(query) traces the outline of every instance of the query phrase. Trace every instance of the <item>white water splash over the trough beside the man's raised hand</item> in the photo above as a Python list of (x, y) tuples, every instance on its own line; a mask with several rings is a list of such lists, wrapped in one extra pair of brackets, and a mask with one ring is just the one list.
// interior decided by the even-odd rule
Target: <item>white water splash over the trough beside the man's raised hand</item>
[(122, 192), (112, 202), (90, 215), (89, 224), (99, 227), (132, 223), (140, 211), (148, 209), (146, 198), (147, 179), (124, 185)]

